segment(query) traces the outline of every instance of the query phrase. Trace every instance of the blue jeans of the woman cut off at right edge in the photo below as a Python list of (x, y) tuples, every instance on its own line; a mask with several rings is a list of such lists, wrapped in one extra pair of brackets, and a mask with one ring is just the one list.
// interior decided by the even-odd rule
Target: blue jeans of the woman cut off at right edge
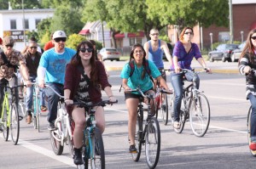
[(251, 141), (256, 143), (256, 97), (252, 94), (248, 94), (248, 99), (252, 104), (252, 115), (251, 115)]

